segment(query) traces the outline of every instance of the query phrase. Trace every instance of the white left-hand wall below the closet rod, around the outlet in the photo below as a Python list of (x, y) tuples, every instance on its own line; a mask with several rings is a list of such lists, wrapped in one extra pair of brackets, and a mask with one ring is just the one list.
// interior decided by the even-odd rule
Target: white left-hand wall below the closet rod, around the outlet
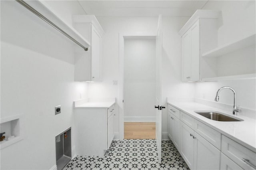
[(74, 43), (16, 1), (1, 1), (1, 118), (24, 115), (24, 139), (1, 150), (1, 169), (54, 166), (55, 136), (70, 126), (74, 134), (73, 101), (85, 96), (86, 84), (74, 82)]

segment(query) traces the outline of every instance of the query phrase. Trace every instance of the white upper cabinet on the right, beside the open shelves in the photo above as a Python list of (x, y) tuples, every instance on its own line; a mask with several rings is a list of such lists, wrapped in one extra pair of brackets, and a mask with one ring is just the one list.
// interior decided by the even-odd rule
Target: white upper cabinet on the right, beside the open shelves
[(218, 11), (197, 10), (182, 27), (182, 81), (200, 81), (203, 51), (217, 44)]

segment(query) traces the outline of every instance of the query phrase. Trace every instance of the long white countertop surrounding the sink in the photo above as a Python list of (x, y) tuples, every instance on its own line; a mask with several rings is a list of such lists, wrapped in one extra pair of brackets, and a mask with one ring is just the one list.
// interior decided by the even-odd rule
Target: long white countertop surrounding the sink
[[(242, 144), (248, 149), (256, 152), (256, 120), (245, 116), (234, 116), (232, 113), (227, 113), (227, 111), (210, 107), (207, 105), (202, 105), (196, 102), (182, 102), (182, 101), (167, 101), (168, 104), (176, 107), (180, 111), (187, 113), (194, 119), (208, 125), (209, 127), (217, 130), (218, 132), (224, 134), (225, 136), (235, 140), (236, 142)], [(218, 111), (228, 114), (244, 121), (237, 122), (222, 122), (207, 119), (194, 111)]]

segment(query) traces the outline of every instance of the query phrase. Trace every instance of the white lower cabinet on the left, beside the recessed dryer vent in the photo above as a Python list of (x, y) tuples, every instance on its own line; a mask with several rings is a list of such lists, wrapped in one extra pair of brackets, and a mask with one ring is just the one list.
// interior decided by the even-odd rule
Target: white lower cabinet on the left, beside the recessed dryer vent
[(114, 105), (74, 109), (76, 154), (103, 156), (114, 138)]

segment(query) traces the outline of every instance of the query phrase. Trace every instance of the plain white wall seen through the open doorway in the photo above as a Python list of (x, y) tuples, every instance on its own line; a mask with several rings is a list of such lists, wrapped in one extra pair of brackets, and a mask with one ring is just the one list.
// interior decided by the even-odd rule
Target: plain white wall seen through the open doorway
[(156, 40), (124, 40), (124, 121), (155, 121)]

